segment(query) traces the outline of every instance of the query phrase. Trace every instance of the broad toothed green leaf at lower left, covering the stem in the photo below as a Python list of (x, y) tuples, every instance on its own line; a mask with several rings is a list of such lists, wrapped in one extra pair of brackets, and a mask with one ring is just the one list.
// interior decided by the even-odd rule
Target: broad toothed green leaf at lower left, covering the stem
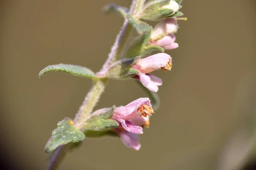
[(49, 153), (60, 145), (70, 142), (79, 142), (84, 140), (84, 138), (84, 133), (73, 126), (73, 121), (69, 118), (65, 118), (58, 122), (57, 128), (52, 131), (52, 136), (45, 145), (44, 151)]

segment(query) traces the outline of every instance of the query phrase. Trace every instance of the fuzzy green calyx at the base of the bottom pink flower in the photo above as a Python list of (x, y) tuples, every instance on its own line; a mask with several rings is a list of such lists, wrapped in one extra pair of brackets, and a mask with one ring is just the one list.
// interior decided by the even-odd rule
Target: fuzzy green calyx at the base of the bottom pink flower
[(119, 127), (119, 123), (111, 119), (88, 119), (83, 128), (85, 130), (105, 131)]

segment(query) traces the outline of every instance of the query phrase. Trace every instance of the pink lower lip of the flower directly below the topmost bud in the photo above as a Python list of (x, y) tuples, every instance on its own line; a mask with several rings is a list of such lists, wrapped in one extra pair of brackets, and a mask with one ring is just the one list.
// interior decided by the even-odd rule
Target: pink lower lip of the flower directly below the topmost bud
[(169, 35), (163, 37), (160, 40), (150, 41), (149, 44), (160, 46), (165, 50), (172, 50), (172, 49), (175, 49), (175, 48), (179, 47), (178, 43), (175, 42), (175, 40), (176, 40), (175, 35), (174, 34), (169, 34)]

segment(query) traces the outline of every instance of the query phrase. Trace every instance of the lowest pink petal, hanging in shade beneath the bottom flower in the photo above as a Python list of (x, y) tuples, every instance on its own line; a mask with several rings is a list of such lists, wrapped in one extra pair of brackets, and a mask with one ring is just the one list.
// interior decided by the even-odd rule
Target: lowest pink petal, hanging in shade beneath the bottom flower
[(140, 149), (139, 136), (131, 132), (118, 132), (122, 142), (125, 146), (130, 147), (133, 150)]

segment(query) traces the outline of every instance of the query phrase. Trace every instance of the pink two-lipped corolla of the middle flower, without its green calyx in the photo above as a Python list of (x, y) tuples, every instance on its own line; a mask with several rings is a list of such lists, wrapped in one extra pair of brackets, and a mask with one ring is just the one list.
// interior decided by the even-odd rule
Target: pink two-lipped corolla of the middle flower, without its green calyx
[(170, 70), (172, 68), (172, 58), (165, 53), (158, 53), (152, 56), (140, 59), (131, 68), (137, 69), (139, 74), (136, 79), (149, 90), (157, 92), (158, 86), (162, 85), (162, 80), (151, 74), (148, 74), (157, 69)]

